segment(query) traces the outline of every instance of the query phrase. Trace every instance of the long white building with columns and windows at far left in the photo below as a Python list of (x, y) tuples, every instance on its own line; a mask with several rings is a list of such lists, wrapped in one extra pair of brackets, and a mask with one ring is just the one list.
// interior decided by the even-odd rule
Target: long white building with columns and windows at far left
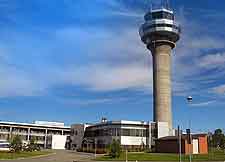
[(64, 145), (65, 149), (70, 127), (58, 122), (35, 121), (30, 124), (0, 121), (0, 140), (8, 141), (13, 135), (19, 135), (23, 143), (34, 138), (41, 148), (63, 149)]

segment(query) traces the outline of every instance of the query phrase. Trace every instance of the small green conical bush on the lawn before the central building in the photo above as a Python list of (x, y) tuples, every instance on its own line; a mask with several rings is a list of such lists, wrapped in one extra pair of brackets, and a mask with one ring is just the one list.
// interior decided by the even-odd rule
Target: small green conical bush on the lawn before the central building
[(118, 140), (113, 140), (109, 146), (109, 155), (112, 158), (119, 158), (121, 155), (122, 149), (120, 147), (120, 142)]

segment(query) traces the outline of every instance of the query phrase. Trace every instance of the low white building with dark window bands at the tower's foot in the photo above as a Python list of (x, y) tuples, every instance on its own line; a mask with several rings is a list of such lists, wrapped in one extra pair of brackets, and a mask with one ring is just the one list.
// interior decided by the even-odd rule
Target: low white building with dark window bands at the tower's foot
[(164, 122), (102, 120), (93, 125), (75, 124), (71, 127), (71, 143), (74, 149), (104, 149), (114, 139), (124, 148), (152, 148), (155, 139), (169, 135), (171, 132), (168, 124)]

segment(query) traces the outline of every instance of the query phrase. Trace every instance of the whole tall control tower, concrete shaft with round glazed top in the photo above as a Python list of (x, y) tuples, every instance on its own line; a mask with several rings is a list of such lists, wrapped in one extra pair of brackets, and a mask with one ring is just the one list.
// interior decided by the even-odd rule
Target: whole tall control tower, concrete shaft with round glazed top
[(157, 123), (167, 122), (171, 131), (171, 52), (180, 38), (180, 26), (168, 5), (151, 9), (144, 20), (139, 34), (153, 57), (153, 118)]

